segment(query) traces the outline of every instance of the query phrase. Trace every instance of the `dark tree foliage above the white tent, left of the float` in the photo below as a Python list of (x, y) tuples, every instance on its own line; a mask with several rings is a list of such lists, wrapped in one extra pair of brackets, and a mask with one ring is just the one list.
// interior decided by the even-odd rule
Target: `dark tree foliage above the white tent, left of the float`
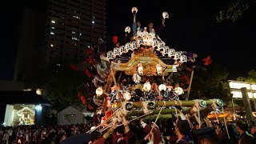
[(84, 76), (80, 71), (71, 70), (69, 64), (64, 63), (48, 66), (41, 75), (46, 98), (54, 103), (56, 110), (81, 104), (77, 94), (78, 86), (83, 82)]

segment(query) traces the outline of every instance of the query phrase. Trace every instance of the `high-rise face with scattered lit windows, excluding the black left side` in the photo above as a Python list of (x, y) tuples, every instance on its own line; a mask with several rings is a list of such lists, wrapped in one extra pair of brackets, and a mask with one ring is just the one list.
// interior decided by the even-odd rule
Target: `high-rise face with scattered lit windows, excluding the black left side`
[(105, 38), (106, 0), (49, 0), (45, 61), (81, 62), (84, 48)]

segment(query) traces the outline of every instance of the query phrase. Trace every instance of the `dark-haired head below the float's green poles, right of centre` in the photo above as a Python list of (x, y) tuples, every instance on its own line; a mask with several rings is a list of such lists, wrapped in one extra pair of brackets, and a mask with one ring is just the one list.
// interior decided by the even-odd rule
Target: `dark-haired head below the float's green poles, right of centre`
[(190, 124), (186, 120), (179, 119), (175, 125), (175, 133), (186, 135), (190, 133)]

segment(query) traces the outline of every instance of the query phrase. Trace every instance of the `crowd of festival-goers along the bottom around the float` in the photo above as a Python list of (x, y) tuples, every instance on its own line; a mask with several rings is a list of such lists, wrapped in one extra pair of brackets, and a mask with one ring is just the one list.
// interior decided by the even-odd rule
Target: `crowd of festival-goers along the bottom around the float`
[[(120, 125), (121, 124), (121, 125)], [(93, 130), (94, 124), (77, 124), (65, 126), (16, 126), (1, 127), (1, 144), (32, 144), (32, 143), (239, 143), (250, 144), (256, 142), (256, 125), (243, 120), (224, 123), (212, 122), (212, 126), (201, 126), (186, 118), (162, 119), (156, 123), (150, 119), (138, 119), (128, 122), (122, 117), (122, 122), (114, 124), (110, 129), (99, 133)], [(86, 133), (87, 132), (87, 133)], [(90, 135), (90, 138), (87, 138)]]

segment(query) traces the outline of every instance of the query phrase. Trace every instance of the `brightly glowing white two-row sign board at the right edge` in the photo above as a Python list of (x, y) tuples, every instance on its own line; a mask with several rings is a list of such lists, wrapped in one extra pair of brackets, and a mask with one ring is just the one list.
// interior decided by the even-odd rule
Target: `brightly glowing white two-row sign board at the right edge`
[(230, 93), (233, 94), (233, 98), (242, 98), (241, 88), (246, 87), (249, 98), (256, 98), (256, 84), (250, 84), (249, 82), (238, 82), (229, 80)]

